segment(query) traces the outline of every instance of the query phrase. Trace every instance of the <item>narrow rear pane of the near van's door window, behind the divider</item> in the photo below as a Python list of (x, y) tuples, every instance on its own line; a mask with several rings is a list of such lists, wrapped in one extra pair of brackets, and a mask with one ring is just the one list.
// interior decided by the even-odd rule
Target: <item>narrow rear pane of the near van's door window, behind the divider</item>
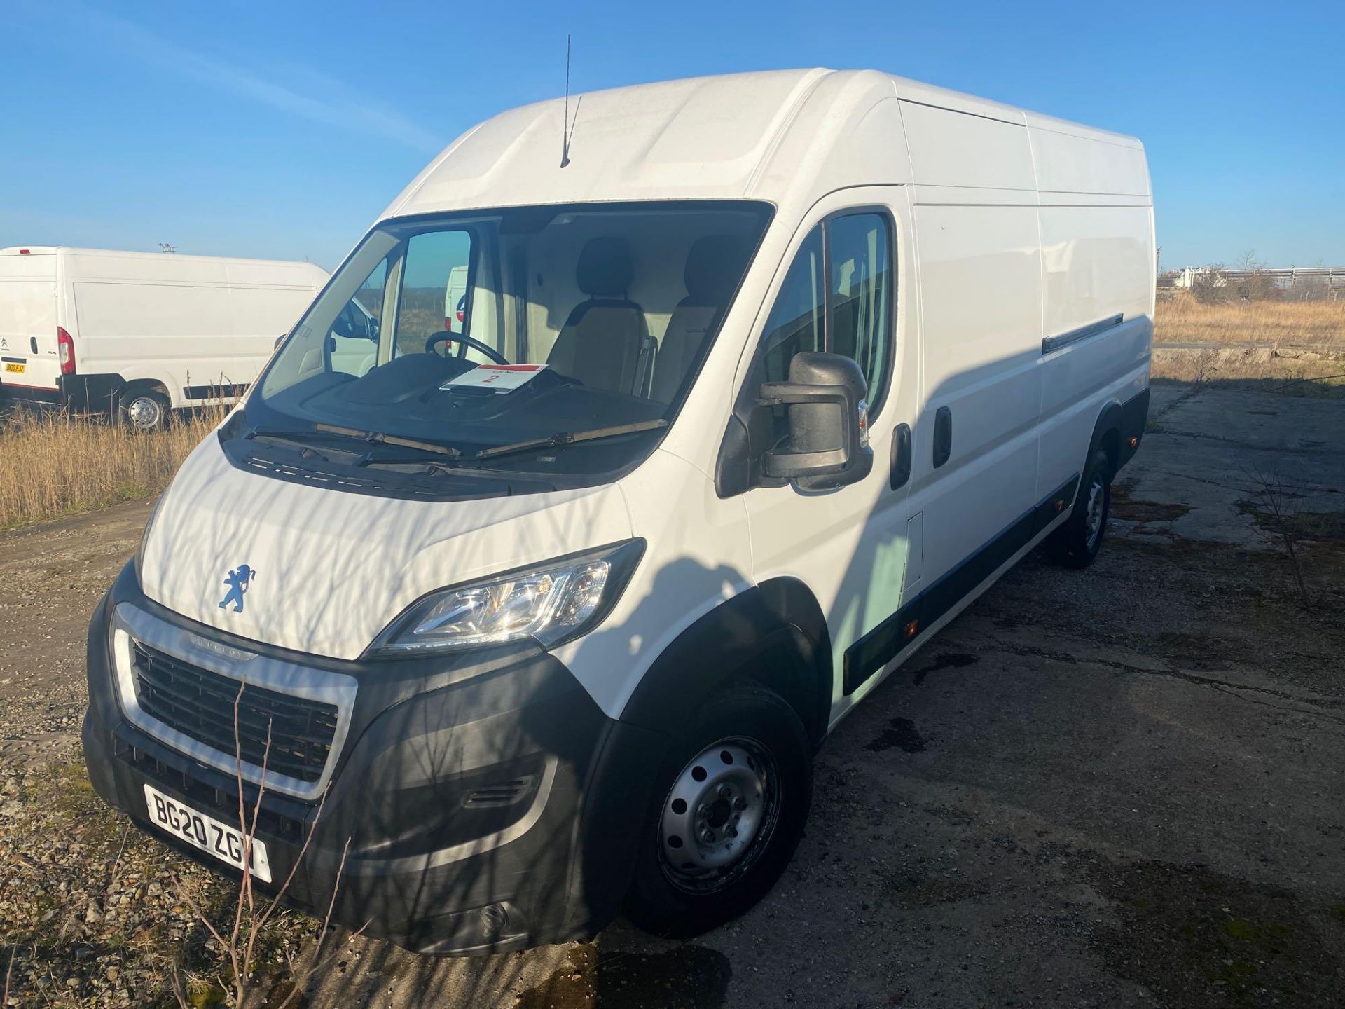
[(847, 214), (827, 222), (831, 281), (830, 348), (853, 358), (869, 382), (869, 413), (886, 396), (892, 358), (892, 235), (882, 214)]

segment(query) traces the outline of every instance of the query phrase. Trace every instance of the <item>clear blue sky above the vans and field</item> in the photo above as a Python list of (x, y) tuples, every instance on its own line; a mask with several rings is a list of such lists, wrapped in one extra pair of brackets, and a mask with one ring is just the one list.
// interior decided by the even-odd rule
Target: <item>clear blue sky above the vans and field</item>
[(0, 246), (334, 266), (463, 129), (572, 89), (876, 67), (1139, 136), (1163, 266), (1345, 265), (1345, 4), (11, 0)]

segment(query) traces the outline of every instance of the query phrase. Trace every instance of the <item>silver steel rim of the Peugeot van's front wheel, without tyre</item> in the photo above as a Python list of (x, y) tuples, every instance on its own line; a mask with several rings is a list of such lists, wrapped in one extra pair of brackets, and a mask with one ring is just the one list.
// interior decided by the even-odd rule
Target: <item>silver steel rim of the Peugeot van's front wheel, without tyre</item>
[(722, 891), (757, 862), (779, 819), (780, 782), (771, 752), (753, 739), (718, 740), (682, 768), (663, 798), (663, 873), (691, 893)]

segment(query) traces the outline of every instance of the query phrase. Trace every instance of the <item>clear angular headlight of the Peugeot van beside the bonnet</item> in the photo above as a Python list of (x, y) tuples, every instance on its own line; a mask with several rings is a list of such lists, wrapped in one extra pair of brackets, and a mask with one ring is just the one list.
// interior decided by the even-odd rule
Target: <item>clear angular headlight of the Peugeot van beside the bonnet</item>
[(644, 553), (643, 539), (432, 592), (387, 626), (370, 652), (417, 654), (534, 639), (551, 648), (601, 620)]

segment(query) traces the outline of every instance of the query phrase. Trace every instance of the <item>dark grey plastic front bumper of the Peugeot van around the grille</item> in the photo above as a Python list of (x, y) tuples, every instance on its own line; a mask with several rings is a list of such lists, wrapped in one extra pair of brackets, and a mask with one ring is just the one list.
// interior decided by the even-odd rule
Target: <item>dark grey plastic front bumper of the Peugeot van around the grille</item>
[[(89, 775), (108, 803), (223, 873), (234, 870), (149, 825), (145, 783), (237, 823), (238, 779), (128, 718), (109, 634), (118, 607), (225, 651), (307, 662), (317, 677), (358, 683), (324, 795), (268, 788), (261, 800), (257, 837), (276, 885), (295, 870), (286, 903), (321, 916), (335, 891), (338, 923), (430, 954), (565, 942), (616, 913), (663, 740), (605, 717), (550, 654), (297, 657), (168, 613), (126, 565), (89, 628)], [(257, 787), (245, 782), (242, 791), (252, 817)]]

